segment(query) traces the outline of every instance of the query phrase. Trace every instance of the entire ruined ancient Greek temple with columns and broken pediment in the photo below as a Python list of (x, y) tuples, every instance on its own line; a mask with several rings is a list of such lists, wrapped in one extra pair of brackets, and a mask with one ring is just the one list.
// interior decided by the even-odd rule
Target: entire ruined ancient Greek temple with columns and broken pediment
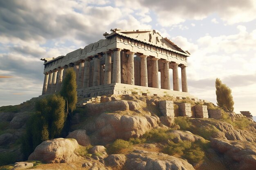
[(103, 34), (105, 39), (83, 49), (56, 58), (42, 58), (45, 61), (42, 95), (60, 91), (65, 71), (72, 67), (80, 97), (132, 93), (191, 96), (186, 80), (188, 51), (155, 30), (110, 31)]

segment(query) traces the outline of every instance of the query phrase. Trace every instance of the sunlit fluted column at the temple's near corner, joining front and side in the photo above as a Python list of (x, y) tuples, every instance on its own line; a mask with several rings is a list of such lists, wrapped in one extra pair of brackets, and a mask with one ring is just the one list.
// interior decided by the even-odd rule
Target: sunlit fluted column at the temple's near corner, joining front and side
[(114, 50), (114, 60), (113, 60), (113, 83), (121, 83), (121, 49)]

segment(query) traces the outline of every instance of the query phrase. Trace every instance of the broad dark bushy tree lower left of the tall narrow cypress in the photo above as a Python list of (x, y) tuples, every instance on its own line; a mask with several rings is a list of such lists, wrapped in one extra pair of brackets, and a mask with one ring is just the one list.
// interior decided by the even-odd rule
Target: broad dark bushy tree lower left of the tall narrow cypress
[(43, 141), (60, 137), (66, 119), (65, 100), (60, 95), (41, 99), (36, 103), (36, 109), (38, 111), (27, 122), (22, 138), (25, 159)]

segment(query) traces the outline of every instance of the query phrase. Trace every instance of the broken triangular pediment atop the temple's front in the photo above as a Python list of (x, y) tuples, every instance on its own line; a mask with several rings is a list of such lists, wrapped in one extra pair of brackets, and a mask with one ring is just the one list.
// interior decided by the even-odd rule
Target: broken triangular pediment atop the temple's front
[(111, 29), (113, 33), (107, 34), (106, 38), (113, 35), (119, 34), (124, 35), (130, 38), (134, 38), (143, 42), (148, 42), (149, 44), (154, 44), (157, 46), (162, 46), (167, 49), (172, 49), (176, 51), (180, 51), (182, 53), (188, 53), (188, 51), (182, 50), (179, 46), (174, 44), (168, 38), (164, 38), (160, 33), (156, 30), (121, 30), (121, 29)]

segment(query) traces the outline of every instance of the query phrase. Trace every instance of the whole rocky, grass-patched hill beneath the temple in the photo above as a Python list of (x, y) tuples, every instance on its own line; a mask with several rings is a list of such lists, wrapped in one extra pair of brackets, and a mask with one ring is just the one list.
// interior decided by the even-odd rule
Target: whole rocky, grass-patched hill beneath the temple
[[(160, 101), (173, 101), (175, 118)], [(221, 110), (220, 119), (196, 118), (195, 106), (209, 103), (172, 97), (105, 96), (74, 111), (69, 135), (44, 141), (28, 160), (21, 153), (35, 100), (0, 108), (0, 170), (253, 170), (256, 123)], [(189, 103), (191, 118), (180, 117)], [(14, 162), (18, 162), (13, 164)], [(9, 165), (7, 165), (9, 164)]]

